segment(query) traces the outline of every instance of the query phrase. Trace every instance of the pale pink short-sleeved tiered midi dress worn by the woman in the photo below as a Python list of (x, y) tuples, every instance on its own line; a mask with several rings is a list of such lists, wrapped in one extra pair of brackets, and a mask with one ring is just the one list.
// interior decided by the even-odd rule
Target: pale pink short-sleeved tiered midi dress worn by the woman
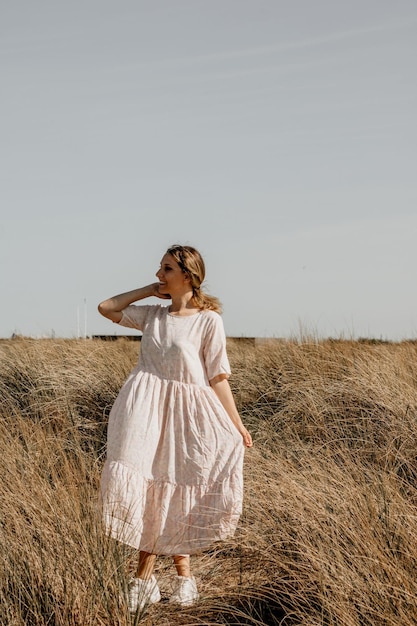
[(154, 554), (193, 554), (233, 535), (242, 509), (242, 436), (209, 385), (229, 376), (214, 311), (130, 305), (140, 357), (110, 413), (101, 481), (107, 532)]

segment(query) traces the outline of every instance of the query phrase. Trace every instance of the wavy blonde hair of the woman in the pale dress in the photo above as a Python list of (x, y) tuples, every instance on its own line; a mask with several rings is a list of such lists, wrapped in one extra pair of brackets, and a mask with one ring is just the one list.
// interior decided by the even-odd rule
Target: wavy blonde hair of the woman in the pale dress
[(210, 296), (201, 289), (201, 284), (206, 275), (206, 266), (199, 251), (192, 246), (176, 244), (168, 248), (167, 254), (174, 257), (182, 271), (189, 276), (196, 307), (201, 310), (208, 309), (221, 313), (222, 306), (218, 298)]

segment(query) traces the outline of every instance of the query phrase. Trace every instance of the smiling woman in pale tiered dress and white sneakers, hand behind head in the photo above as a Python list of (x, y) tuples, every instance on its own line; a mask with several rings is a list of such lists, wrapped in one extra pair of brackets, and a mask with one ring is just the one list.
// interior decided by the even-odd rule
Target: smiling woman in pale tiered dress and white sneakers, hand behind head
[[(107, 532), (139, 549), (129, 583), (132, 612), (160, 600), (158, 554), (172, 555), (176, 566), (171, 601), (198, 599), (190, 554), (233, 535), (244, 447), (252, 446), (228, 383), (220, 304), (201, 289), (200, 253), (172, 246), (156, 276), (158, 282), (98, 307), (143, 332), (139, 362), (110, 413), (101, 485)], [(171, 304), (132, 305), (149, 296)]]

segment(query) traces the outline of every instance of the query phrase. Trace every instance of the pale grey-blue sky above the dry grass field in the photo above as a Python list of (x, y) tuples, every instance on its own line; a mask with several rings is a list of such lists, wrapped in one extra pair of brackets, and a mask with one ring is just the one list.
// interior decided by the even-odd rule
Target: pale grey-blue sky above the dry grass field
[(124, 333), (97, 303), (171, 243), (228, 335), (417, 337), (415, 0), (16, 0), (0, 35), (1, 337)]

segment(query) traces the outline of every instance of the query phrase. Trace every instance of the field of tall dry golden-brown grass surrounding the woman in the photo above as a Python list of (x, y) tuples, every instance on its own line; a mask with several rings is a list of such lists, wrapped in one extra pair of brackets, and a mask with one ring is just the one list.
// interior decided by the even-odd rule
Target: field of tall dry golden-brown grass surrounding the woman
[[(417, 344), (229, 341), (255, 446), (196, 606), (130, 617), (132, 552), (101, 529), (106, 423), (139, 344), (0, 342), (0, 624), (417, 623)], [(173, 568), (160, 559), (167, 595)]]

